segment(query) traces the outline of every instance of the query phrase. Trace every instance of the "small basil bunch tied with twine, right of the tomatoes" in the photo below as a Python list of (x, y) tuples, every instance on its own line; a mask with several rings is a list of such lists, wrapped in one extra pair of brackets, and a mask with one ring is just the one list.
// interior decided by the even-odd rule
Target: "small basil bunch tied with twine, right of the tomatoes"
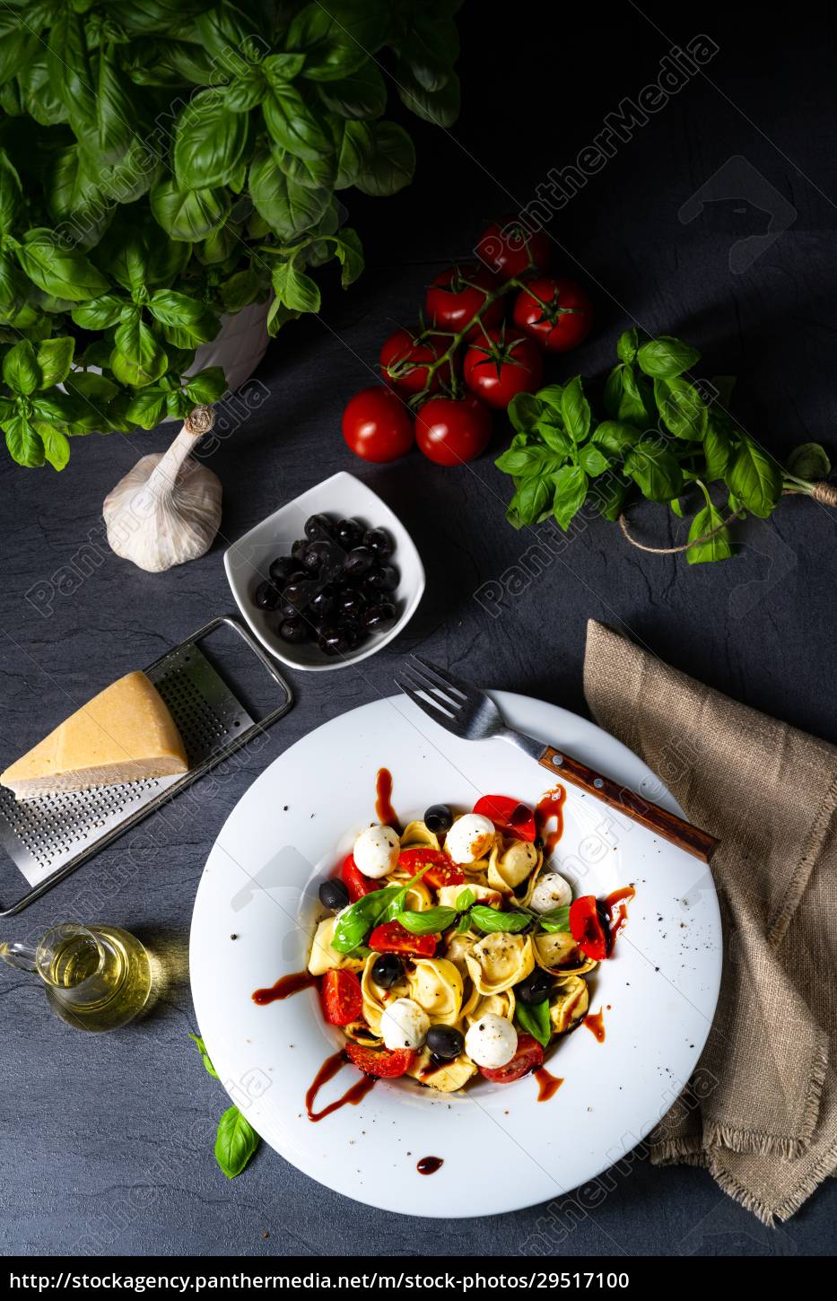
[[(514, 480), (506, 518), (515, 528), (553, 518), (568, 530), (582, 511), (616, 520), (644, 497), (683, 515), (681, 497), (696, 501), (686, 550), (690, 565), (733, 556), (726, 515), (767, 519), (782, 493), (812, 496), (830, 471), (819, 444), (791, 451), (782, 467), (730, 416), (734, 380), (693, 382), (700, 354), (681, 340), (625, 330), (618, 362), (594, 414), (583, 380), (518, 393), (509, 405), (515, 433), (496, 464)], [(719, 507), (715, 498), (725, 498)], [(706, 537), (707, 533), (712, 537)], [(704, 541), (699, 541), (704, 539)]]

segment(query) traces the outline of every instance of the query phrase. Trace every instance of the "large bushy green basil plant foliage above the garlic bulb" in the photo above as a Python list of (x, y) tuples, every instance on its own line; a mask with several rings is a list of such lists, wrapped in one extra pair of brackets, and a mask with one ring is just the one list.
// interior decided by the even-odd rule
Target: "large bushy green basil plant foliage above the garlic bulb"
[(7, 0), (0, 13), (0, 428), (61, 470), (225, 392), (187, 375), (221, 315), (268, 329), (363, 269), (338, 191), (413, 177), (407, 109), (460, 105), (458, 0)]

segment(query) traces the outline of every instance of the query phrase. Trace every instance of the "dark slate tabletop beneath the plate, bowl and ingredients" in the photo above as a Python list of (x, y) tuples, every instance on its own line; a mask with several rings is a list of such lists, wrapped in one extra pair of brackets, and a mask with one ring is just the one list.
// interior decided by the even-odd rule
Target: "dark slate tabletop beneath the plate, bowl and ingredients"
[[(450, 1223), (370, 1211), (269, 1150), (226, 1183), (212, 1159), (225, 1098), (186, 1038), (194, 1026), (189, 919), (224, 818), (297, 738), (388, 693), (400, 654), (422, 647), (486, 684), (583, 710), (584, 623), (594, 617), (737, 699), (837, 739), (836, 532), (827, 510), (786, 502), (773, 523), (747, 530), (733, 563), (696, 569), (631, 550), (613, 526), (591, 523), (561, 562), (491, 619), (475, 589), (528, 545), (504, 523), (508, 488), (491, 458), (443, 471), (415, 454), (376, 468), (342, 444), (342, 405), (370, 380), (389, 319), (410, 321), (430, 277), (452, 255), (467, 252), (486, 219), (525, 204), (551, 167), (573, 163), (601, 130), (605, 112), (653, 81), (670, 44), (686, 43), (699, 25), (720, 46), (706, 75), (635, 129), (553, 222), (558, 262), (583, 273), (599, 312), (592, 340), (553, 375), (601, 372), (633, 319), (698, 343), (706, 373), (738, 373), (742, 418), (769, 446), (785, 451), (808, 438), (832, 440), (837, 164), (821, 118), (832, 111), (833, 34), (807, 21), (804, 8), (794, 10), (795, 26), (780, 42), (746, 14), (738, 30), (728, 18), (703, 16), (655, 20), (660, 31), (624, 5), (577, 18), (562, 30), (561, 55), (551, 56), (553, 47), (538, 30), (543, 8), (523, 7), (528, 17), (518, 35), (523, 27), (528, 35), (514, 60), (514, 34), (476, 14), (466, 18), (461, 124), (448, 135), (415, 131), (419, 169), (411, 190), (377, 204), (349, 196), (368, 269), (350, 294), (329, 294), (322, 320), (289, 328), (268, 353), (258, 379), (269, 398), (212, 458), (225, 498), (221, 535), (208, 556), (168, 575), (146, 575), (102, 553), (90, 576), (72, 595), (56, 595), (44, 617), (27, 591), (57, 583), (61, 566), (95, 537), (105, 493), (141, 453), (165, 446), (171, 431), (91, 437), (74, 446), (60, 476), (23, 472), (5, 459), (0, 466), (4, 762), (66, 713), (68, 695), (86, 697), (228, 609), (226, 543), (336, 470), (359, 474), (401, 514), (428, 575), (406, 636), (357, 670), (295, 675), (293, 712), (258, 756), (245, 753), (211, 790), (195, 788), (199, 816), (167, 837), (142, 870), (117, 885), (125, 851), (116, 846), (3, 926), (3, 934), (22, 938), (70, 915), (122, 922), (167, 955), (171, 976), (142, 1026), (86, 1037), (51, 1015), (30, 978), (0, 973), (4, 1252), (522, 1250), (544, 1209)], [(781, 91), (789, 78), (790, 99)], [(696, 208), (694, 195), (708, 182), (711, 202), (685, 224), (678, 212), (690, 200)], [(741, 258), (754, 246), (741, 242), (771, 222), (776, 238), (742, 271)], [(643, 514), (638, 527), (661, 544), (677, 537), (660, 511)], [(255, 693), (258, 686), (250, 673), (247, 690)], [(7, 872), (5, 898), (16, 885)], [(491, 1154), (475, 1154), (475, 1171), (489, 1160)], [(574, 1227), (558, 1219), (566, 1231), (556, 1250), (833, 1250), (832, 1181), (772, 1231), (700, 1171), (652, 1170), (638, 1158), (609, 1185), (601, 1205)]]

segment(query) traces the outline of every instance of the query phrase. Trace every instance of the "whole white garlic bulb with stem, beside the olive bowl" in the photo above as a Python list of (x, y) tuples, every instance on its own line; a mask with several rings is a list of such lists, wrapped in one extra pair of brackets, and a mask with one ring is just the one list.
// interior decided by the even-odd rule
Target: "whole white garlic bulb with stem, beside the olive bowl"
[(208, 552), (221, 522), (221, 484), (189, 453), (213, 423), (212, 407), (197, 406), (168, 451), (143, 457), (108, 493), (102, 513), (117, 556), (159, 574)]

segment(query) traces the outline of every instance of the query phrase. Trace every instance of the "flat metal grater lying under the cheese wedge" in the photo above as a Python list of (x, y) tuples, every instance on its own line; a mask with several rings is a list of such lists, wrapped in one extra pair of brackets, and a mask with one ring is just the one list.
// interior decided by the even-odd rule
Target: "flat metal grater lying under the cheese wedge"
[[(221, 626), (238, 634), (281, 688), (281, 704), (263, 718), (250, 717), (198, 648), (198, 641)], [(17, 903), (0, 908), (0, 917), (22, 912), (111, 840), (269, 727), (293, 704), (285, 679), (246, 628), (228, 615), (211, 619), (144, 673), (172, 712), (186, 748), (189, 771), (25, 801), (0, 787), (0, 844), (31, 886)]]

